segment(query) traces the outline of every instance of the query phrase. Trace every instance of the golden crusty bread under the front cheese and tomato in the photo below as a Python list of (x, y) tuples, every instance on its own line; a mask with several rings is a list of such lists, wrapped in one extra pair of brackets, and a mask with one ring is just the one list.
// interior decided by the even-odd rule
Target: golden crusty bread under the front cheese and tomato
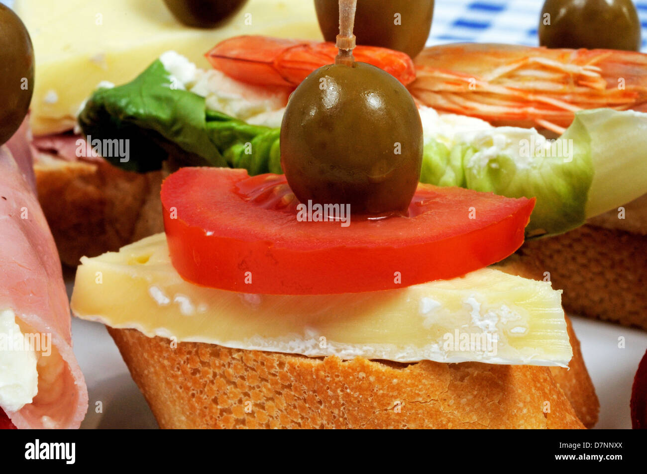
[(162, 428), (582, 428), (547, 367), (228, 349), (108, 328)]

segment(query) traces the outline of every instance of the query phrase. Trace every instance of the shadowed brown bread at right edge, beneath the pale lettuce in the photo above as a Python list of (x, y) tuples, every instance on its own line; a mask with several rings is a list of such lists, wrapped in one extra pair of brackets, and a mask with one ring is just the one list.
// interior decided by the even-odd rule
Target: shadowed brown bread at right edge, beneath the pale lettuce
[(647, 236), (587, 224), (518, 254), (550, 273), (567, 312), (647, 330)]

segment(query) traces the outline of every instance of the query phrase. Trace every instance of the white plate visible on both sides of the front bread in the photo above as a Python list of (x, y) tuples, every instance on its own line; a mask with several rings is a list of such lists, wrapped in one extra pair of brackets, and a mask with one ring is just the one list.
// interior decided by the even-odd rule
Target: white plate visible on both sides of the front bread
[[(67, 276), (70, 291), (72, 279)], [(595, 427), (631, 428), (631, 384), (647, 349), (647, 332), (586, 318), (572, 319), (600, 399), (600, 420)], [(90, 396), (90, 407), (81, 427), (157, 427), (104, 325), (72, 318), (72, 334), (74, 353)], [(624, 338), (624, 349), (619, 347), (619, 338)], [(97, 402), (101, 402), (103, 413), (96, 413)]]

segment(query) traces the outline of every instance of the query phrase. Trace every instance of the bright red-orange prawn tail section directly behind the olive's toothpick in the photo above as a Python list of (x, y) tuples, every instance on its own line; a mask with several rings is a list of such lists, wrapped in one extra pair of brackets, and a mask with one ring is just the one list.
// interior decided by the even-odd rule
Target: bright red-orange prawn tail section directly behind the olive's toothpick
[[(236, 36), (215, 45), (205, 56), (215, 69), (239, 81), (258, 85), (296, 87), (311, 72), (334, 63), (339, 52), (334, 43)], [(357, 46), (355, 61), (386, 70), (404, 85), (415, 79), (415, 67), (403, 52)]]

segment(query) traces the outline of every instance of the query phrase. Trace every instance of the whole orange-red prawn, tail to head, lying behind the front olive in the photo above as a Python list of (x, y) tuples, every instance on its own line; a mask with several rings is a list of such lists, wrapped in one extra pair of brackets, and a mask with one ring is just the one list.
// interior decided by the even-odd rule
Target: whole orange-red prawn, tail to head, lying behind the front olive
[[(237, 36), (206, 58), (239, 81), (294, 88), (337, 52), (333, 43)], [(647, 54), (639, 52), (466, 43), (426, 48), (415, 67), (386, 48), (358, 46), (353, 54), (408, 85), (417, 102), (493, 125), (562, 133), (582, 109), (647, 111)]]

